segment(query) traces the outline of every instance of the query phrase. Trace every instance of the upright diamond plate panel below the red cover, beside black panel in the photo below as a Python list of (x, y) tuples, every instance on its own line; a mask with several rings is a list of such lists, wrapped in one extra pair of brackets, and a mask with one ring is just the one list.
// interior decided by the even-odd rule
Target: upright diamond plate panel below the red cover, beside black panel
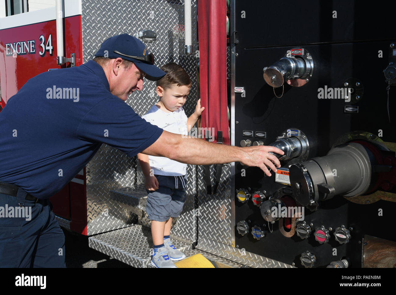
[[(230, 164), (223, 166), (215, 194), (206, 194), (204, 167), (198, 167), (198, 236), (231, 245)], [(215, 165), (210, 167), (211, 184), (215, 183)], [(208, 251), (210, 252), (210, 251)]]

